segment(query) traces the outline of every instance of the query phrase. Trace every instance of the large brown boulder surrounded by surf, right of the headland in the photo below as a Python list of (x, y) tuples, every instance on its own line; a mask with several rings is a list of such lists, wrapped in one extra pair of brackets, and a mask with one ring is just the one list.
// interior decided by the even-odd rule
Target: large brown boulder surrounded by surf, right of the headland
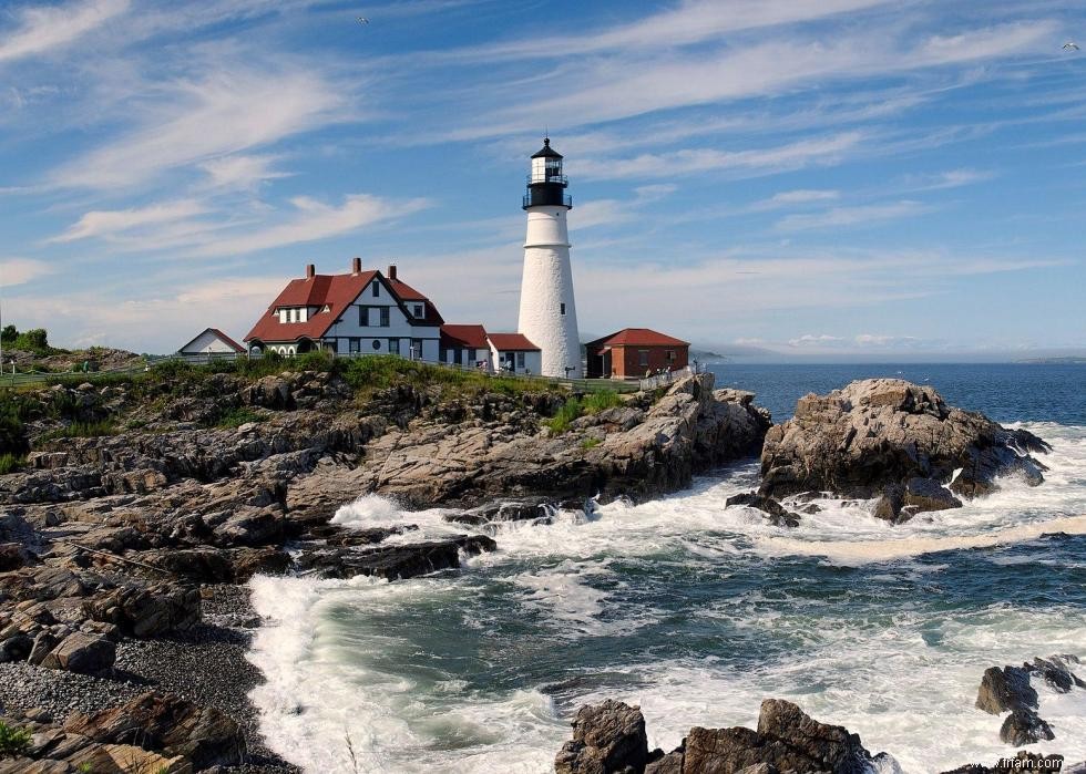
[(874, 497), (901, 487), (890, 510), (912, 514), (956, 507), (953, 495), (987, 494), (1007, 474), (1039, 484), (1045, 466), (1032, 454), (1047, 451), (1036, 435), (949, 406), (931, 388), (868, 379), (801, 398), (796, 415), (769, 430), (761, 493)]

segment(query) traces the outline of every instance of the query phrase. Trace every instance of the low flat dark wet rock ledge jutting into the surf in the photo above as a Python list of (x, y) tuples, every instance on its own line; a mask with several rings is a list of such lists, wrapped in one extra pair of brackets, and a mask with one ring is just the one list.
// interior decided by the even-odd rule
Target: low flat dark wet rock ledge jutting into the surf
[(326, 578), (352, 578), (372, 575), (396, 580), (460, 567), (460, 553), (480, 554), (498, 547), (485, 535), (461, 535), (447, 540), (431, 540), (404, 546), (386, 546), (369, 550), (350, 548), (303, 554), (299, 569)]

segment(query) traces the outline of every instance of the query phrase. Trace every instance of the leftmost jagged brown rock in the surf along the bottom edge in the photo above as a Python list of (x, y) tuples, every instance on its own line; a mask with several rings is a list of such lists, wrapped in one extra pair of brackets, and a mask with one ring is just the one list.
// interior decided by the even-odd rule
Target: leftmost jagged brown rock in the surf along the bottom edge
[(573, 741), (554, 760), (556, 774), (641, 772), (648, 758), (645, 718), (637, 706), (608, 699), (585, 705), (573, 722)]

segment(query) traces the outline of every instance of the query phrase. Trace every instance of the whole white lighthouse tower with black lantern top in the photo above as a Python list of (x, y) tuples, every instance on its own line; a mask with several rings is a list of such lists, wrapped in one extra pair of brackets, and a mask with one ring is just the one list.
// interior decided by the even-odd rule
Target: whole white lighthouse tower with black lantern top
[(524, 194), (527, 236), (518, 330), (542, 351), (544, 376), (580, 379), (581, 339), (565, 225), (566, 213), (573, 209), (567, 185), (562, 154), (545, 137), (543, 148), (532, 155)]

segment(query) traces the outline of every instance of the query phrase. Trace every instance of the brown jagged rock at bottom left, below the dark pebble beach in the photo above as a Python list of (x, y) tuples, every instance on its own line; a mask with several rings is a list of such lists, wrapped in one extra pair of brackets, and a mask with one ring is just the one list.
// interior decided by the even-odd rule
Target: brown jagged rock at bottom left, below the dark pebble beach
[(194, 770), (245, 762), (237, 723), (214, 708), (202, 708), (167, 693), (143, 693), (126, 704), (90, 715), (74, 714), (64, 731), (103, 744), (139, 744), (165, 756), (184, 756)]

